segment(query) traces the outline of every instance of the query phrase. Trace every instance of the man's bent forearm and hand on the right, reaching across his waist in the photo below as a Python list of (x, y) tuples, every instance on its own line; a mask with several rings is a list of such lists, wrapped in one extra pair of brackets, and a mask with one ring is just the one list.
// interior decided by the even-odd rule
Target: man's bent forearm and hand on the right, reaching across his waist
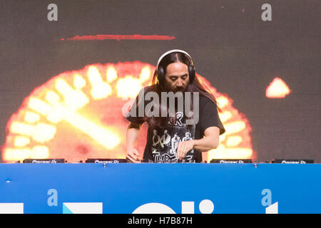
[(217, 148), (220, 140), (219, 135), (220, 128), (209, 127), (204, 131), (204, 138), (179, 142), (177, 147), (178, 159), (183, 160), (187, 152), (193, 149), (203, 152)]

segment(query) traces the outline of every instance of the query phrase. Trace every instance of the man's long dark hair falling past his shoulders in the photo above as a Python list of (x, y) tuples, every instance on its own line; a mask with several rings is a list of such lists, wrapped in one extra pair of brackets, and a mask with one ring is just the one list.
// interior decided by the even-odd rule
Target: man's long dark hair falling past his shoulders
[[(185, 53), (181, 53), (181, 52), (173, 52), (173, 53), (169, 53), (168, 55), (164, 56), (158, 66), (163, 68), (164, 75), (165, 75), (167, 66), (170, 63), (176, 63), (176, 62), (184, 63), (187, 66), (193, 66), (193, 61), (187, 55), (185, 55)], [(158, 80), (157, 68), (154, 72), (152, 83), (151, 83), (151, 86), (148, 88), (148, 91), (153, 91), (153, 92), (158, 93), (159, 97), (161, 97), (161, 92), (165, 92), (164, 85), (161, 85), (160, 81)], [(213, 103), (215, 104), (216, 108), (218, 108), (220, 113), (222, 113), (222, 110), (220, 109), (220, 107), (218, 107), (218, 103), (217, 103), (213, 93), (210, 91), (210, 89), (207, 86), (202, 85), (200, 83), (197, 76), (195, 76), (192, 83), (188, 84), (185, 92), (190, 92), (192, 95), (192, 97), (191, 97), (191, 110), (192, 111), (193, 111), (193, 92), (198, 92), (200, 96), (204, 96), (204, 97), (212, 100)], [(161, 105), (159, 108), (160, 108), (159, 113), (161, 113), (162, 108), (167, 108), (167, 110), (168, 110), (168, 107), (161, 107)], [(167, 112), (167, 113), (169, 113), (169, 112)], [(190, 118), (193, 118), (193, 115)], [(170, 118), (170, 120), (175, 121), (175, 117)], [(164, 123), (167, 123), (166, 121), (168, 121), (168, 117), (151, 117), (151, 118), (146, 118), (146, 121), (149, 126), (151, 126), (152, 128), (155, 128), (156, 126), (161, 126)]]

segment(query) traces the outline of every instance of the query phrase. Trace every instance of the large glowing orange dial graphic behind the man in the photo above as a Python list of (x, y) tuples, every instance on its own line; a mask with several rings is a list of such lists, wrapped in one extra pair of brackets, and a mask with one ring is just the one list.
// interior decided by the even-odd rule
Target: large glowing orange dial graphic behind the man
[[(65, 158), (78, 162), (87, 158), (125, 158), (128, 120), (123, 113), (131, 107), (139, 90), (151, 83), (155, 66), (140, 61), (85, 66), (66, 71), (35, 88), (6, 125), (6, 141), (1, 147), (4, 162), (26, 158)], [(220, 146), (204, 160), (252, 158), (250, 125), (232, 107), (228, 95), (215, 94), (220, 119), (226, 133)], [(137, 148), (143, 157), (147, 125), (141, 129)]]

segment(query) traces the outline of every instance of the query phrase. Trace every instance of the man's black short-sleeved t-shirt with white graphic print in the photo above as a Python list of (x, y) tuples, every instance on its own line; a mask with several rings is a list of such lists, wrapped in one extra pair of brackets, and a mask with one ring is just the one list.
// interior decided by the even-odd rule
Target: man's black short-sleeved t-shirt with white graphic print
[[(148, 88), (144, 88), (145, 93)], [(138, 97), (136, 98), (138, 101)], [(146, 105), (146, 101), (144, 100)], [(131, 107), (131, 113), (136, 109), (134, 103)], [(136, 113), (137, 110), (134, 110)], [(195, 125), (186, 124), (186, 116), (183, 112), (176, 112), (175, 123), (173, 121), (166, 121), (161, 127), (156, 126), (152, 128), (148, 126), (147, 142), (143, 155), (145, 162), (177, 162), (176, 150), (178, 142), (186, 140), (198, 140), (203, 138), (206, 128), (216, 126), (220, 128), (220, 135), (225, 133), (225, 128), (218, 116), (218, 109), (212, 100), (200, 95), (199, 96), (199, 118)], [(136, 115), (137, 116), (137, 115)], [(144, 123), (146, 118), (134, 117), (129, 115), (127, 120), (133, 123)], [(169, 119), (168, 119), (169, 120)], [(202, 153), (198, 150), (189, 151), (184, 162), (201, 162)]]

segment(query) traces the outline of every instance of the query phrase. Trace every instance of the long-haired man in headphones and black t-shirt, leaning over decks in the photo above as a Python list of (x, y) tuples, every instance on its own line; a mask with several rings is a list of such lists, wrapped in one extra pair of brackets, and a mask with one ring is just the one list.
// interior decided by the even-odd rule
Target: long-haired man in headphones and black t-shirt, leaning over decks
[[(185, 105), (185, 101), (189, 99), (187, 101), (190, 103), (191, 112), (179, 111), (182, 109), (177, 107), (181, 106), (175, 100), (174, 115), (131, 115), (138, 113), (139, 105), (146, 106), (146, 100), (138, 96), (126, 116), (130, 121), (126, 135), (128, 162), (141, 162), (135, 145), (144, 122), (148, 123), (147, 142), (143, 154), (143, 160), (146, 162), (201, 162), (202, 152), (218, 147), (219, 135), (225, 133), (218, 116), (220, 108), (214, 95), (202, 86), (195, 76), (195, 67), (188, 53), (178, 49), (164, 53), (158, 60), (152, 85), (143, 88), (140, 93), (148, 92), (157, 93), (160, 98), (164, 92), (173, 92), (175, 95), (178, 94), (177, 97), (189, 92), (191, 95), (188, 97), (183, 95), (183, 104)], [(159, 108), (158, 113), (163, 113), (164, 109), (168, 110), (168, 105), (164, 107), (163, 102), (153, 107)], [(195, 118), (197, 116), (198, 118)], [(192, 121), (192, 124), (188, 122), (191, 118), (196, 120), (194, 123)], [(157, 135), (158, 143), (155, 141), (156, 134), (160, 134)]]

